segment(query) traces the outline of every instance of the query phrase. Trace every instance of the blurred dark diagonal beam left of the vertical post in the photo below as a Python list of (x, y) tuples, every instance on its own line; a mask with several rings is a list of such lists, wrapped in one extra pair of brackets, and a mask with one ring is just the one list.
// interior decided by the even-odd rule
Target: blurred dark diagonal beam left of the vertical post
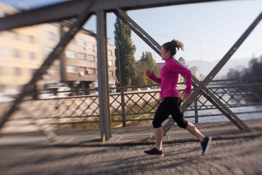
[(31, 80), (23, 86), (23, 89), (21, 93), (18, 95), (17, 98), (15, 98), (13, 104), (9, 108), (7, 112), (5, 112), (0, 117), (0, 129), (2, 128), (3, 124), (9, 116), (18, 108), (18, 105), (22, 102), (23, 98), (26, 95), (29, 95), (34, 84), (37, 82), (38, 79), (46, 72), (50, 64), (53, 62), (54, 59), (56, 59), (61, 52), (63, 51), (64, 47), (67, 45), (67, 43), (72, 39), (72, 37), (77, 33), (77, 31), (82, 27), (82, 25), (85, 23), (85, 21), (90, 17), (90, 12), (88, 10), (89, 7), (91, 7), (92, 2), (90, 1), (84, 8), (82, 14), (77, 17), (77, 21), (70, 27), (70, 29), (65, 33), (65, 35), (61, 38), (60, 42), (55, 46), (53, 51), (47, 56), (45, 61), (42, 63), (39, 69), (34, 73)]

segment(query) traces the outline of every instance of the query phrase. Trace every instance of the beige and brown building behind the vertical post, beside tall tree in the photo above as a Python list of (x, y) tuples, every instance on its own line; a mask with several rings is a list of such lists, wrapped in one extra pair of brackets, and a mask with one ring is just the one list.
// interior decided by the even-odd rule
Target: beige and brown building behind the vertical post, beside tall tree
[[(59, 23), (62, 32), (68, 30), (68, 23)], [(50, 71), (61, 69), (60, 79), (71, 89), (87, 89), (96, 87), (97, 81), (97, 52), (95, 33), (81, 29), (67, 44), (63, 55), (60, 56), (60, 65), (54, 64)], [(107, 44), (108, 84), (115, 86), (115, 55), (114, 46)], [(59, 66), (59, 67), (58, 67)], [(53, 70), (52, 70), (53, 69)], [(54, 73), (55, 74), (55, 73)]]

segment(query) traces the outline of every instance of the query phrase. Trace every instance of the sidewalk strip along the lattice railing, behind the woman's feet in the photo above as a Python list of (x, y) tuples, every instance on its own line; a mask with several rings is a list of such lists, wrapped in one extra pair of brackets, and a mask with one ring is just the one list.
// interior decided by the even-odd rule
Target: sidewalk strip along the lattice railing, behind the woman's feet
[[(212, 136), (213, 140), (262, 135), (262, 118), (244, 120), (253, 132), (238, 129), (230, 121), (196, 123), (196, 127), (204, 135)], [(99, 129), (78, 129), (56, 131), (56, 141), (50, 141), (43, 133), (18, 133), (0, 136), (0, 145), (63, 145), (63, 146), (115, 146), (153, 144), (152, 126), (132, 126), (112, 128), (112, 137), (100, 141)], [(197, 141), (187, 132), (174, 125), (163, 137), (163, 143)]]

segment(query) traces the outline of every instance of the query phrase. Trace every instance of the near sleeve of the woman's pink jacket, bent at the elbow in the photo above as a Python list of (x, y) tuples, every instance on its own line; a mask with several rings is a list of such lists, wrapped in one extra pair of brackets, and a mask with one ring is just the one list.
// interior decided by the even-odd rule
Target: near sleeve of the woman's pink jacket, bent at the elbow
[(180, 74), (183, 74), (185, 76), (185, 89), (183, 90), (184, 93), (188, 93), (190, 94), (191, 92), (191, 84), (192, 84), (192, 81), (191, 81), (191, 71), (187, 68), (185, 68), (184, 66), (182, 66), (181, 64), (177, 63), (177, 62), (170, 62), (169, 64), (167, 64), (167, 69), (170, 70), (170, 71), (173, 71), (173, 72), (177, 72), (177, 73), (180, 73)]

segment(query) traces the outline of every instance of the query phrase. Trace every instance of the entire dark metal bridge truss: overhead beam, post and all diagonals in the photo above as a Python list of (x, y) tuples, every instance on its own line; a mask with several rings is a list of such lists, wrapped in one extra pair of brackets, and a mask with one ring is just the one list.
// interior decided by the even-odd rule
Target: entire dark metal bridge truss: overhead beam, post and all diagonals
[[(55, 46), (53, 51), (47, 56), (41, 67), (35, 72), (32, 79), (24, 85), (21, 93), (18, 95), (18, 97), (13, 102), (12, 106), (9, 108), (9, 110), (2, 115), (0, 118), (0, 128), (3, 126), (4, 122), (8, 119), (8, 117), (16, 110), (18, 105), (22, 102), (24, 96), (28, 95), (31, 89), (33, 88), (33, 85), (36, 83), (36, 81), (45, 73), (48, 66), (52, 63), (52, 61), (59, 56), (59, 54), (63, 51), (66, 44), (71, 40), (71, 38), (76, 34), (76, 32), (81, 28), (81, 26), (84, 24), (84, 22), (89, 18), (91, 14), (96, 13), (97, 21), (100, 22), (97, 24), (98, 28), (101, 27), (98, 30), (98, 35), (100, 34), (102, 37), (98, 37), (98, 47), (101, 47), (102, 44), (105, 42), (106, 32), (105, 32), (105, 11), (111, 11), (114, 10), (114, 13), (121, 18), (129, 27), (140, 37), (142, 40), (144, 40), (155, 52), (159, 54), (160, 52), (160, 45), (152, 38), (150, 37), (139, 25), (137, 25), (131, 18), (129, 18), (122, 10), (122, 9), (137, 9), (137, 8), (143, 8), (143, 7), (156, 7), (156, 6), (166, 6), (166, 5), (174, 5), (174, 4), (184, 4), (184, 3), (196, 3), (196, 2), (206, 2), (206, 1), (216, 1), (216, 0), (138, 0), (138, 1), (129, 1), (129, 0), (99, 0), (99, 1), (93, 1), (93, 0), (74, 0), (74, 1), (66, 1), (62, 2), (60, 4), (50, 5), (47, 7), (25, 11), (20, 14), (14, 15), (14, 16), (7, 16), (0, 19), (0, 23), (4, 23), (4, 25), (0, 26), (0, 30), (4, 29), (10, 29), (15, 27), (21, 27), (21, 26), (27, 26), (27, 25), (33, 25), (43, 22), (49, 22), (54, 20), (60, 20), (70, 17), (75, 17), (77, 21), (70, 27), (68, 32), (66, 32), (60, 42)], [(132, 3), (130, 3), (132, 2)], [(59, 10), (58, 10), (59, 9)], [(80, 11), (80, 12), (79, 12)], [(48, 15), (46, 15), (48, 13)], [(39, 15), (44, 14), (44, 15)], [(51, 15), (50, 15), (51, 14)], [(19, 16), (19, 17), (18, 17)], [(37, 16), (37, 17), (35, 17)], [(23, 20), (20, 20), (20, 19)], [(237, 117), (235, 114), (228, 109), (219, 99), (216, 98), (214, 94), (210, 92), (208, 88), (205, 86), (210, 82), (210, 80), (215, 76), (215, 74), (220, 70), (220, 68), (226, 63), (226, 61), (230, 58), (230, 56), (234, 53), (234, 51), (239, 47), (239, 45), (243, 42), (243, 40), (248, 36), (248, 34), (252, 31), (252, 29), (255, 27), (255, 25), (260, 21), (261, 14), (256, 18), (256, 20), (248, 27), (248, 29), (244, 32), (244, 34), (237, 40), (237, 42), (234, 44), (232, 48), (227, 52), (220, 62), (213, 68), (213, 70), (208, 74), (208, 76), (204, 79), (203, 82), (199, 82), (195, 77), (192, 76), (192, 85), (195, 87), (194, 92), (191, 95), (191, 99), (186, 101), (182, 105), (182, 109), (185, 110), (189, 104), (196, 98), (198, 93), (201, 93), (206, 99), (208, 99), (213, 105), (215, 105), (229, 120), (231, 120), (238, 128), (245, 129), (250, 131), (250, 129)], [(15, 22), (14, 22), (15, 21)], [(103, 57), (105, 47), (101, 47), (98, 51), (98, 54)], [(99, 69), (102, 69), (105, 67), (106, 61), (105, 59), (102, 60), (101, 65), (99, 65)], [(98, 81), (101, 80), (106, 81), (106, 73), (102, 72), (100, 75), (98, 75)], [(105, 82), (103, 82), (104, 84)], [(101, 88), (99, 91), (103, 92), (103, 95), (107, 95), (106, 88)], [(102, 95), (99, 95), (99, 98)], [(102, 101), (102, 105), (106, 106), (108, 103)], [(108, 107), (108, 106), (107, 106)], [(102, 107), (101, 107), (102, 108)], [(102, 109), (100, 109), (101, 111)], [(108, 111), (104, 112), (104, 114), (107, 116)], [(106, 117), (105, 116), (105, 117)], [(106, 125), (108, 123), (107, 120), (103, 121)], [(169, 128), (172, 126), (174, 121), (170, 119), (163, 127), (164, 132), (167, 132)], [(101, 123), (102, 124), (102, 123)], [(108, 128), (104, 128), (106, 130), (106, 138), (108, 139), (110, 137), (110, 131), (108, 131)], [(101, 131), (103, 132), (103, 131)], [(52, 135), (51, 133), (49, 136)], [(47, 134), (48, 136), (48, 134)]]

